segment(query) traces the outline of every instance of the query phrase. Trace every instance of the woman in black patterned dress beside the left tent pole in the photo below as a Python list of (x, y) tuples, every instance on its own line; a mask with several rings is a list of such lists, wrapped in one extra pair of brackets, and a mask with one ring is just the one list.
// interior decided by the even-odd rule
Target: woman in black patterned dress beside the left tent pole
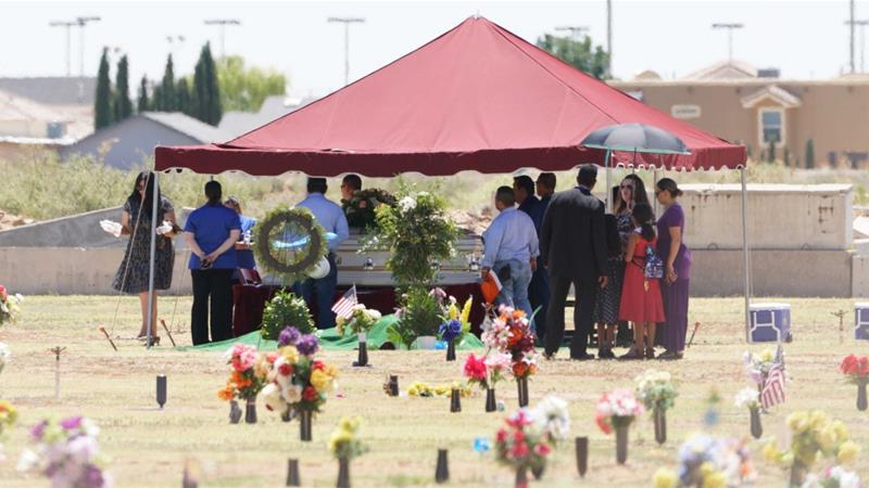
[[(152, 202), (154, 194), (153, 172), (142, 171), (136, 177), (133, 193), (124, 203), (124, 213), (121, 216), (121, 233), (129, 235), (124, 259), (117, 269), (112, 287), (123, 293), (136, 293), (142, 310), (142, 326), (138, 338), (144, 338), (148, 328), (148, 281), (150, 278), (151, 235), (158, 228), (167, 221), (177, 228), (175, 208), (168, 198), (158, 194), (159, 205), (156, 224), (151, 221)], [(168, 290), (172, 286), (172, 269), (175, 265), (175, 248), (172, 243), (174, 231), (156, 235), (156, 253), (154, 255), (154, 294), (151, 313), (151, 335), (156, 337), (156, 291)]]

